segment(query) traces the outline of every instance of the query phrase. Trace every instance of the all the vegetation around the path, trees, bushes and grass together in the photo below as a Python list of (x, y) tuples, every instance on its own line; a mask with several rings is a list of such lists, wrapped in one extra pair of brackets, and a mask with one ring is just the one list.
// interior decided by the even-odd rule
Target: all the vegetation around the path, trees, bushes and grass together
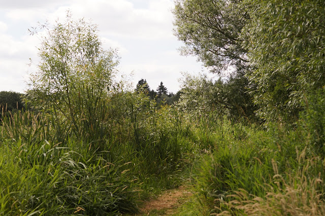
[(134, 90), (96, 25), (44, 28), (26, 110), (0, 124), (0, 214), (136, 213), (184, 179), (180, 215), (325, 214), (325, 3), (176, 0), (173, 13), (182, 54), (224, 77)]

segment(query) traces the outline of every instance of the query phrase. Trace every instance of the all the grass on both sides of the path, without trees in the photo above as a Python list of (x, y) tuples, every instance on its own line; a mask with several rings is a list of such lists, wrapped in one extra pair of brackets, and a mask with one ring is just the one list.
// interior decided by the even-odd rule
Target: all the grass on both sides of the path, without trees
[(312, 127), (323, 125), (319, 112), (295, 127), (262, 128), (213, 113), (190, 119), (131, 96), (97, 113), (87, 106), (78, 127), (55, 109), (8, 113), (0, 125), (0, 214), (136, 213), (184, 179), (195, 195), (179, 215), (325, 213), (322, 127)]

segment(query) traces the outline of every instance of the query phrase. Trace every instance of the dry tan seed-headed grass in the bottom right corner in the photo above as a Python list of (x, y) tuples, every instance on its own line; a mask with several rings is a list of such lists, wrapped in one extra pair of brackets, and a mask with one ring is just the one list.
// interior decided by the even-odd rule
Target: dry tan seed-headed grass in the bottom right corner
[[(322, 180), (319, 177), (308, 179), (305, 175), (309, 166), (312, 166), (319, 158), (303, 159), (304, 153), (305, 151), (297, 156), (299, 162), (304, 161), (305, 165), (294, 176), (288, 174), (287, 181), (277, 173), (277, 166), (274, 163), (273, 169), (277, 174), (273, 176), (273, 179), (278, 187), (266, 185), (268, 192), (264, 198), (249, 195), (245, 190), (239, 190), (228, 196), (233, 197), (234, 200), (225, 205), (244, 215), (325, 215), (325, 202), (321, 199), (322, 194), (317, 191)], [(214, 215), (232, 214), (230, 211), (222, 211)]]

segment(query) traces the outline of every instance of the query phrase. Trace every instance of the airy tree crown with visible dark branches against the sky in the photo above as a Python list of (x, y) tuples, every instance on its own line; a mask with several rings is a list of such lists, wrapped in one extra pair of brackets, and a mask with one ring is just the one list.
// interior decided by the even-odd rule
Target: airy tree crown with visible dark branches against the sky
[(196, 55), (213, 73), (247, 62), (239, 38), (249, 19), (238, 0), (176, 0), (175, 35), (184, 55)]

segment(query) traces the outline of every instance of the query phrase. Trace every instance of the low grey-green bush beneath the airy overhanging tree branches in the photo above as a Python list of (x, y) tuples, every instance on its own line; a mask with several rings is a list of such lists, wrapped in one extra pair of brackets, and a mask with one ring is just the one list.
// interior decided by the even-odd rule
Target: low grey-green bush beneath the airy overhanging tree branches
[(203, 116), (214, 111), (221, 119), (227, 115), (235, 121), (244, 118), (248, 122), (256, 121), (253, 113), (256, 107), (248, 93), (252, 87), (243, 72), (232, 75), (229, 80), (215, 82), (206, 75), (184, 74), (182, 82), (183, 93), (177, 104), (183, 112)]

